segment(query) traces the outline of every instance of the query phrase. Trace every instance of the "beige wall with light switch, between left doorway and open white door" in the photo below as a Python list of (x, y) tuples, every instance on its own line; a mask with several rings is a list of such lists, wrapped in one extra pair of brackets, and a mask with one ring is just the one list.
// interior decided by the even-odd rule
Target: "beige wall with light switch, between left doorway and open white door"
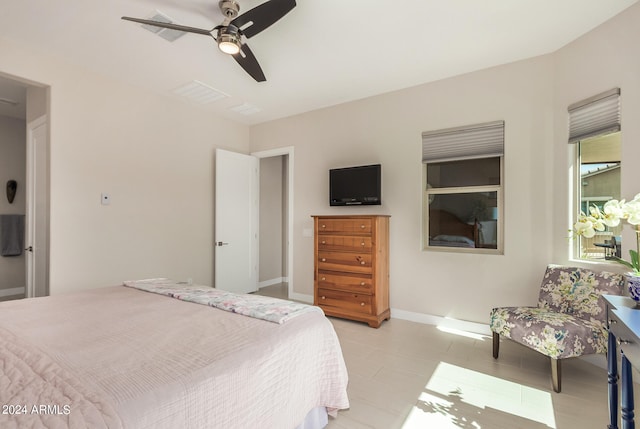
[(157, 276), (211, 284), (214, 150), (247, 152), (248, 127), (33, 46), (0, 39), (0, 52), (0, 72), (51, 87), (51, 294)]

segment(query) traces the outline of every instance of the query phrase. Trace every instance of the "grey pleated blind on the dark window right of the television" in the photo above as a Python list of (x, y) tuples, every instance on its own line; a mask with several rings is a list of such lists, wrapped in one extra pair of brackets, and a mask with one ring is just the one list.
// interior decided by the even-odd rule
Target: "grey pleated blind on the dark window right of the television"
[(504, 154), (504, 121), (422, 133), (422, 162), (460, 161)]

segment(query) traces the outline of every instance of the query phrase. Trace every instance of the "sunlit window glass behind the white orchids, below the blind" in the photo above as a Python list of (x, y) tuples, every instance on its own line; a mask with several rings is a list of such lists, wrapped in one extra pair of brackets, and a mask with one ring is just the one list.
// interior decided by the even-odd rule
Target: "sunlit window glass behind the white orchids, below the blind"
[[(619, 200), (621, 170), (621, 132), (592, 137), (578, 142), (580, 211), (589, 213), (594, 205), (602, 209), (611, 199)], [(622, 224), (596, 231), (591, 238), (578, 237), (579, 259), (603, 259), (606, 255), (621, 256)]]

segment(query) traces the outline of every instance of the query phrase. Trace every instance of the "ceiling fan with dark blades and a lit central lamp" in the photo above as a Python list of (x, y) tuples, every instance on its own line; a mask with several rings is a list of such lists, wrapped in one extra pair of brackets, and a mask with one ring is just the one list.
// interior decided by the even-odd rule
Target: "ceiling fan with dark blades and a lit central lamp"
[(260, 64), (258, 64), (258, 60), (249, 49), (249, 46), (242, 42), (242, 36), (249, 39), (270, 27), (296, 6), (295, 0), (269, 0), (242, 15), (238, 15), (240, 5), (235, 0), (221, 0), (218, 2), (218, 6), (225, 18), (222, 24), (213, 27), (211, 30), (128, 16), (123, 16), (122, 19), (211, 36), (218, 43), (218, 48), (225, 54), (231, 55), (252, 78), (257, 82), (266, 81), (267, 79)]

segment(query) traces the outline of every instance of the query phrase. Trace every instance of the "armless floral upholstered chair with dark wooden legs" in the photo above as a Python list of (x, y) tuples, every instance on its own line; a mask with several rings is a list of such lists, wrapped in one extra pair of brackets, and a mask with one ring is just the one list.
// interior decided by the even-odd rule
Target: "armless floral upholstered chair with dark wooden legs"
[(561, 390), (560, 360), (607, 350), (606, 304), (601, 295), (622, 295), (621, 274), (549, 265), (537, 307), (499, 307), (491, 311), (493, 357), (500, 336), (551, 358), (553, 390)]

